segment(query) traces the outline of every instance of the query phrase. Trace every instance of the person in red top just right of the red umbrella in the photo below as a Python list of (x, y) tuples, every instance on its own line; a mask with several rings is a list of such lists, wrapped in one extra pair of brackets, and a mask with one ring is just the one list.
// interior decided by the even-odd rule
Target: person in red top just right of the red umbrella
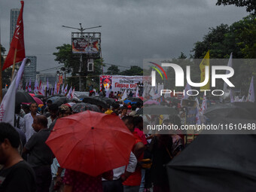
[[(145, 145), (142, 143), (140, 136), (134, 132), (134, 118), (132, 116), (126, 116), (122, 118), (123, 123), (126, 124), (128, 129), (133, 133), (136, 141), (133, 145), (133, 154), (135, 154), (138, 161), (143, 159)], [(126, 181), (123, 181), (123, 192), (139, 192), (139, 187), (142, 181), (141, 167), (137, 166), (135, 172), (133, 172)]]

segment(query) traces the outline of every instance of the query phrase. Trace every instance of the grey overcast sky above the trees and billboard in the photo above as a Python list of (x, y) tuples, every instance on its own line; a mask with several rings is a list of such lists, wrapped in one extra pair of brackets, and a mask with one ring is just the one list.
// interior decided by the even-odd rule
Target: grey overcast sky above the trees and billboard
[[(38, 58), (37, 70), (59, 66), (53, 52), (70, 44), (64, 26), (102, 33), (102, 57), (119, 66), (142, 66), (143, 59), (187, 56), (196, 41), (221, 23), (248, 15), (245, 8), (216, 6), (217, 0), (25, 0), (23, 22), (26, 55)], [(1, 43), (9, 49), (10, 11), (20, 1), (0, 2)], [(7, 51), (8, 52), (8, 51)], [(120, 68), (121, 70), (125, 68)], [(53, 73), (54, 71), (47, 71)]]

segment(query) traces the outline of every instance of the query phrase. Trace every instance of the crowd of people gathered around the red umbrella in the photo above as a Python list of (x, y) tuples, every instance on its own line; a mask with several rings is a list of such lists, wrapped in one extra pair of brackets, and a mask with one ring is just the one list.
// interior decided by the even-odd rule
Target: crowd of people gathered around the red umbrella
[[(120, 96), (119, 92), (109, 94), (112, 99)], [(120, 117), (136, 140), (128, 165), (97, 177), (60, 167), (45, 144), (56, 120), (72, 114), (68, 104), (59, 106), (48, 99), (40, 109), (37, 103), (20, 106), (15, 111), (15, 128), (0, 123), (0, 191), (169, 191), (165, 166), (184, 149), (183, 136), (145, 134), (147, 122), (136, 113), (142, 103), (100, 108)], [(162, 123), (181, 125), (181, 119), (169, 115)]]

